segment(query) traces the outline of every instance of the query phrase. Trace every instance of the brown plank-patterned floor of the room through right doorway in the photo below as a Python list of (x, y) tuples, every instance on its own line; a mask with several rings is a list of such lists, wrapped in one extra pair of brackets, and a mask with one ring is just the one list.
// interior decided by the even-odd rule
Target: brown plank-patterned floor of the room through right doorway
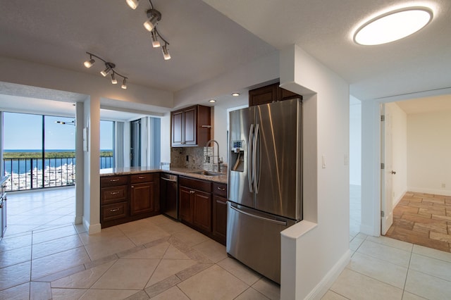
[(451, 196), (407, 192), (385, 236), (451, 252)]

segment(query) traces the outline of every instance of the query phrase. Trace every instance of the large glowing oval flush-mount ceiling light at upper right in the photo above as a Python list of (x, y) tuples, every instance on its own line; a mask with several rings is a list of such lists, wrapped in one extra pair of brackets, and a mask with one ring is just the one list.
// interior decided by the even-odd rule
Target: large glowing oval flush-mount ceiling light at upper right
[(371, 46), (397, 41), (428, 25), (433, 11), (427, 7), (407, 7), (383, 13), (364, 23), (354, 33), (354, 42)]

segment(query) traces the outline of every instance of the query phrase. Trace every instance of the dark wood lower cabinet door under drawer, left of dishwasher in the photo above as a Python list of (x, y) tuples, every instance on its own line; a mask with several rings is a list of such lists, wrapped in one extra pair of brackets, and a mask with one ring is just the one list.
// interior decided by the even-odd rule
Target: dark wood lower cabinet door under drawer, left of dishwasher
[(136, 183), (130, 187), (130, 215), (150, 213), (154, 208), (154, 182)]

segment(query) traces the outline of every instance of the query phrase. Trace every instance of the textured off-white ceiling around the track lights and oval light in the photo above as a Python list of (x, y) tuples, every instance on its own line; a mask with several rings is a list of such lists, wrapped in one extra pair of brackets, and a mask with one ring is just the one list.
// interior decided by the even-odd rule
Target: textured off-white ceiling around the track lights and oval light
[[(350, 83), (361, 100), (451, 87), (451, 1), (153, 0), (171, 60), (152, 48), (148, 1), (0, 0), (0, 56), (99, 75), (90, 51), (116, 63), (129, 82), (178, 92), (297, 44)], [(345, 3), (345, 4), (344, 4)], [(433, 21), (398, 42), (359, 46), (352, 30), (399, 4), (431, 4)], [(235, 92), (235, 91), (230, 91)], [(246, 101), (241, 91), (240, 105)], [(218, 95), (221, 99), (221, 95)], [(0, 103), (0, 105), (2, 105)], [(221, 105), (221, 101), (218, 101)], [(112, 118), (112, 117), (111, 117)]]

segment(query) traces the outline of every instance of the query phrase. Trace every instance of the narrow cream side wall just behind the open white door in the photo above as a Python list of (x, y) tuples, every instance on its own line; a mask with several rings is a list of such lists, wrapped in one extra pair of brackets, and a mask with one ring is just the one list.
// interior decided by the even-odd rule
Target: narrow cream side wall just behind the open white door
[[(393, 208), (407, 192), (407, 114), (395, 103), (385, 104), (391, 113), (393, 170)], [(386, 120), (386, 119), (385, 119)]]

